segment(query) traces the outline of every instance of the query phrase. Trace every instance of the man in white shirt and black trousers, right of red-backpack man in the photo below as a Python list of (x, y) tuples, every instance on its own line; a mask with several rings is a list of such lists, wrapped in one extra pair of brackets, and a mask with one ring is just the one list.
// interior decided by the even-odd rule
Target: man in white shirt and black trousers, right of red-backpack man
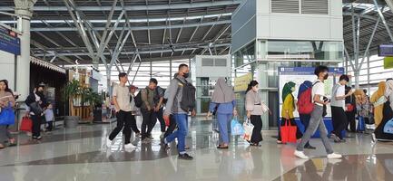
[(331, 90), (331, 120), (333, 123), (333, 131), (331, 132), (330, 138), (334, 139), (334, 142), (345, 142), (342, 138), (341, 132), (348, 125), (347, 115), (345, 114), (345, 98), (352, 95), (352, 91), (345, 94), (345, 85), (349, 82), (348, 75), (341, 75), (339, 82), (333, 86)]

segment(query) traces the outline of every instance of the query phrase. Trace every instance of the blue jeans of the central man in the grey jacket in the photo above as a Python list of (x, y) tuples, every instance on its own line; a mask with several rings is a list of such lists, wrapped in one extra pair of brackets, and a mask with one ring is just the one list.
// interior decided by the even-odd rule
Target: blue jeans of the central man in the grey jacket
[(188, 115), (187, 114), (173, 114), (173, 119), (176, 120), (177, 130), (174, 131), (170, 136), (166, 139), (167, 143), (172, 142), (175, 138), (178, 141), (178, 148), (179, 154), (185, 153), (185, 137), (188, 133)]

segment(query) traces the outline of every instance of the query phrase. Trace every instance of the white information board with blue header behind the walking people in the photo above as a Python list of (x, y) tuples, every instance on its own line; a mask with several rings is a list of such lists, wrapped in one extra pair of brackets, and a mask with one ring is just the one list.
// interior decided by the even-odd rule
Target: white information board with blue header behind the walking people
[[(293, 81), (296, 83), (296, 90), (293, 92), (295, 100), (298, 100), (298, 91), (300, 84), (304, 81), (316, 81), (317, 76), (314, 74), (314, 67), (279, 67), (279, 98), (280, 98), (280, 114), (282, 108), (282, 89), (285, 83)], [(339, 80), (339, 76), (344, 74), (344, 68), (329, 68), (329, 78), (325, 81), (325, 94), (326, 97), (331, 98), (331, 89), (334, 82)], [(299, 117), (298, 111), (294, 112), (295, 117)], [(328, 115), (330, 117), (330, 107), (328, 106)]]

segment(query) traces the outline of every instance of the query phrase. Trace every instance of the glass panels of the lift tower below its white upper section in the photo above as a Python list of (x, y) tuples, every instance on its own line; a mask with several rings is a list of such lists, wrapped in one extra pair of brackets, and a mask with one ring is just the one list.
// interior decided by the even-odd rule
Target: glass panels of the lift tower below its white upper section
[[(279, 67), (337, 67), (343, 61), (343, 43), (321, 41), (257, 40), (232, 53), (235, 71), (232, 77), (251, 72), (260, 83), (261, 99), (272, 115), (263, 115), (263, 129), (276, 129), (280, 119)], [(309, 60), (309, 61), (307, 61)], [(244, 111), (245, 92), (237, 92), (238, 110)]]

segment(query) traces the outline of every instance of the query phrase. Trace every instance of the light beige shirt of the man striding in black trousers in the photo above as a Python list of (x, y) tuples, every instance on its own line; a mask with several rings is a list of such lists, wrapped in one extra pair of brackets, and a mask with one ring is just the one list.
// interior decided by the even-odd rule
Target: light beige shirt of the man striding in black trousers
[(127, 86), (116, 85), (113, 88), (113, 97), (116, 97), (117, 104), (120, 110), (129, 112), (132, 111), (130, 102), (130, 90)]

